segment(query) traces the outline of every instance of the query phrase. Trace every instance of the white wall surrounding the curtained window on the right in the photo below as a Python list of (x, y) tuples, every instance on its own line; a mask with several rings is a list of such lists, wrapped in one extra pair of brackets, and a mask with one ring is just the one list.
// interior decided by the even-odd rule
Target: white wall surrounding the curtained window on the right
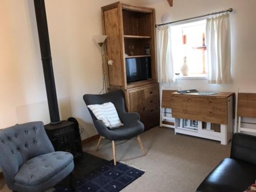
[(163, 13), (169, 13), (172, 21), (204, 15), (233, 8), (231, 21), (231, 74), (233, 82), (224, 85), (208, 84), (207, 80), (180, 79), (170, 86), (181, 89), (198, 89), (199, 91), (233, 91), (238, 87), (256, 89), (256, 1), (255, 0), (174, 0), (170, 7), (167, 1), (150, 5), (156, 9), (156, 22), (161, 23)]

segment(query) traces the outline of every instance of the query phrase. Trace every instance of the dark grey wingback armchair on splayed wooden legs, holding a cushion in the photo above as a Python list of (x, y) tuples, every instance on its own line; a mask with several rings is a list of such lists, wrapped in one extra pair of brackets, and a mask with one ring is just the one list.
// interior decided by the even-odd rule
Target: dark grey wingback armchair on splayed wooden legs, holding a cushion
[(123, 126), (117, 129), (111, 130), (108, 127), (106, 127), (101, 120), (98, 120), (93, 114), (93, 112), (88, 108), (92, 116), (93, 123), (100, 135), (96, 151), (98, 150), (100, 142), (103, 138), (111, 140), (113, 146), (114, 164), (116, 165), (115, 141), (131, 139), (137, 136), (141, 150), (143, 154), (146, 155), (143, 143), (139, 136), (141, 133), (144, 132), (144, 125), (142, 122), (140, 122), (140, 116), (138, 113), (127, 113), (125, 111), (125, 100), (122, 90), (117, 90), (102, 95), (86, 94), (83, 96), (83, 100), (84, 102), (86, 102), (87, 105), (112, 102), (115, 105), (120, 120), (124, 124)]

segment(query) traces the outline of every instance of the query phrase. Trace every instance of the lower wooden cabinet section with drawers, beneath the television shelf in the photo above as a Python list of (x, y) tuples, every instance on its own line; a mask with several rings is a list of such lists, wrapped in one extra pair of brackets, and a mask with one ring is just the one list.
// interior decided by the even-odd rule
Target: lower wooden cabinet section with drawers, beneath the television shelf
[(158, 84), (130, 89), (126, 93), (129, 112), (138, 112), (145, 130), (159, 124)]

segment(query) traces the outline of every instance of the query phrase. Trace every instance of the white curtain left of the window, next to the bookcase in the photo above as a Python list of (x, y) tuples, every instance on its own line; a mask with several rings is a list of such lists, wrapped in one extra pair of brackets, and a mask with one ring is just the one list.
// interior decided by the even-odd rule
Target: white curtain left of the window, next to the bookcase
[(170, 26), (157, 28), (158, 82), (174, 82)]

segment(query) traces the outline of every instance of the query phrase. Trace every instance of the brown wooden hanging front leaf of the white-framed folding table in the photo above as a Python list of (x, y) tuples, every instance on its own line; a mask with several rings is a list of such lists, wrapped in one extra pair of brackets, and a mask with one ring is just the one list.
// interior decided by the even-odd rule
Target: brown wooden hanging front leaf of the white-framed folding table
[(227, 98), (170, 95), (173, 117), (227, 124)]

